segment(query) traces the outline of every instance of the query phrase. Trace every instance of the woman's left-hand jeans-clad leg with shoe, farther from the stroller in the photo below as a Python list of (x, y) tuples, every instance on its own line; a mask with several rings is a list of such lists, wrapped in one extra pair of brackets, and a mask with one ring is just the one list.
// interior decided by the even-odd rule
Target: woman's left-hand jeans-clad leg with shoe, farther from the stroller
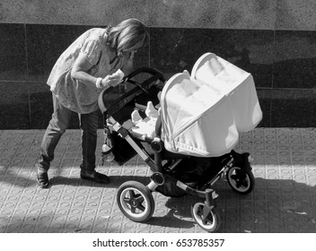
[[(47, 172), (50, 162), (54, 160), (54, 151), (57, 147), (57, 143), (61, 135), (65, 133), (72, 114), (71, 110), (63, 107), (59, 103), (55, 94), (53, 94), (53, 105), (54, 113), (43, 136), (40, 146), (40, 159), (36, 164), (38, 169), (38, 182), (39, 185), (43, 187), (48, 186)], [(41, 180), (42, 182), (40, 182)]]

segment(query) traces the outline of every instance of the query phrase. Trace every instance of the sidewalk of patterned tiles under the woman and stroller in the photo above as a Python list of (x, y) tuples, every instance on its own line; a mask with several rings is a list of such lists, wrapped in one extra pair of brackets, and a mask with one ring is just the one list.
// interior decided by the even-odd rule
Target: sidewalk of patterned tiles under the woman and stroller
[[(99, 133), (98, 150), (103, 135)], [(0, 131), (0, 232), (204, 232), (193, 221), (192, 196), (154, 193), (155, 211), (146, 223), (127, 220), (116, 191), (127, 180), (148, 184), (150, 169), (137, 156), (118, 167), (98, 169), (108, 186), (79, 178), (80, 131), (67, 130), (48, 176), (38, 188), (34, 164), (44, 131)], [(218, 232), (316, 232), (316, 129), (257, 128), (241, 134), (236, 151), (249, 151), (256, 186), (237, 195), (221, 180), (215, 185), (222, 225)], [(58, 168), (60, 167), (60, 168)]]

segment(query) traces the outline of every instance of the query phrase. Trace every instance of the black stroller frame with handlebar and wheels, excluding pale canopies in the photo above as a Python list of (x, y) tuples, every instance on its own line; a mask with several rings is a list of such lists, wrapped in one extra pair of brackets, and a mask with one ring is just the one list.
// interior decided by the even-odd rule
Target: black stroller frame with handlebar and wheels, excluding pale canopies
[[(134, 76), (141, 73), (151, 74), (152, 77), (141, 83), (132, 80)], [(146, 138), (145, 136), (141, 139), (143, 142), (150, 144), (151, 149), (154, 151), (154, 158), (152, 158), (141, 144), (136, 143), (136, 140), (133, 138), (133, 133), (123, 127), (123, 125), (121, 125), (118, 120), (112, 116), (127, 103), (133, 102), (136, 97), (144, 92), (147, 92), (156, 84), (153, 82), (157, 82), (157, 80), (164, 82), (165, 78), (163, 74), (153, 68), (143, 67), (132, 74), (129, 74), (123, 80), (136, 84), (138, 88), (134, 91), (130, 91), (130, 93), (122, 95), (118, 98), (118, 100), (116, 100), (116, 102), (113, 102), (107, 108), (105, 108), (103, 104), (102, 97), (104, 94), (101, 93), (99, 98), (99, 106), (101, 107), (104, 118), (104, 130), (106, 137), (109, 132), (116, 132), (119, 136), (125, 139), (142, 158), (142, 160), (144, 160), (145, 163), (154, 170), (152, 176), (150, 177), (151, 181), (147, 186), (137, 181), (127, 181), (118, 187), (118, 207), (120, 211), (123, 212), (123, 214), (131, 221), (148, 221), (154, 214), (154, 197), (152, 192), (159, 192), (159, 187), (164, 186), (167, 183), (172, 184), (181, 189), (185, 194), (193, 195), (199, 198), (199, 202), (194, 203), (191, 206), (191, 213), (194, 221), (196, 221), (202, 229), (208, 232), (214, 232), (220, 226), (221, 217), (217, 211), (215, 203), (215, 199), (218, 195), (212, 187), (218, 180), (225, 176), (228, 184), (233, 188), (233, 191), (241, 195), (249, 194), (252, 191), (255, 182), (250, 167), (250, 154), (247, 152), (240, 154), (236, 151), (231, 151), (230, 153), (225, 154), (223, 156), (223, 160), (221, 161), (220, 171), (203, 186), (190, 186), (179, 179), (172, 177), (166, 169), (176, 169), (181, 161), (190, 157), (174, 153), (176, 160), (172, 161), (172, 163), (168, 165), (165, 163), (163, 164), (164, 159), (162, 152), (164, 149), (160, 137), (162, 128), (161, 119), (158, 118), (156, 123), (154, 139)], [(141, 106), (138, 106), (138, 108), (139, 107)]]

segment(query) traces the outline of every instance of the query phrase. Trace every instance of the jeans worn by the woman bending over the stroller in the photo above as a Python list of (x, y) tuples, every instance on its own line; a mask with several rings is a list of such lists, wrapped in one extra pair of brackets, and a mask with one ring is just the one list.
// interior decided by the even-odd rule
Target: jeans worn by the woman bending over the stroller
[[(54, 113), (49, 121), (48, 128), (40, 146), (40, 159), (37, 168), (48, 171), (50, 162), (54, 160), (54, 151), (62, 134), (65, 133), (73, 111), (63, 107), (53, 94)], [(97, 130), (100, 111), (89, 114), (78, 114), (82, 130), (83, 162), (80, 166), (83, 172), (94, 172), (95, 150), (97, 145)]]

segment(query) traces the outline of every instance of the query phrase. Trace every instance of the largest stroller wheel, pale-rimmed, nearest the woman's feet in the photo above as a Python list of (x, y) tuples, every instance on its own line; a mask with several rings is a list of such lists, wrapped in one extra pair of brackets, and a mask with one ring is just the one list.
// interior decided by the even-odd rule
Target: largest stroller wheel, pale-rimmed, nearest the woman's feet
[(154, 197), (149, 188), (137, 181), (127, 181), (118, 187), (118, 207), (131, 221), (148, 221), (154, 213)]

